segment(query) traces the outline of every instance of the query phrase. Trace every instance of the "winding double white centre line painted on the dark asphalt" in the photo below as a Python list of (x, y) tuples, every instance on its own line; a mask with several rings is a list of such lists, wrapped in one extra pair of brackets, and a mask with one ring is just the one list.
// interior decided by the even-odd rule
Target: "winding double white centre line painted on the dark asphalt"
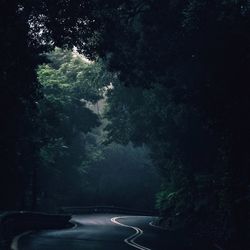
[(124, 242), (126, 244), (128, 244), (128, 245), (130, 245), (130, 246), (132, 246), (134, 248), (140, 249), (140, 250), (151, 250), (150, 248), (147, 248), (147, 247), (144, 247), (144, 246), (141, 246), (141, 245), (135, 243), (135, 240), (143, 234), (143, 231), (138, 227), (132, 227), (132, 226), (125, 225), (125, 224), (122, 224), (122, 223), (117, 221), (118, 219), (124, 219), (124, 218), (127, 218), (127, 217), (124, 217), (124, 216), (123, 217), (114, 217), (114, 218), (111, 219), (111, 221), (113, 223), (115, 223), (115, 224), (117, 224), (119, 226), (132, 228), (132, 229), (134, 229), (136, 231), (135, 234), (133, 234), (133, 235), (129, 236), (128, 238), (126, 238), (124, 240)]

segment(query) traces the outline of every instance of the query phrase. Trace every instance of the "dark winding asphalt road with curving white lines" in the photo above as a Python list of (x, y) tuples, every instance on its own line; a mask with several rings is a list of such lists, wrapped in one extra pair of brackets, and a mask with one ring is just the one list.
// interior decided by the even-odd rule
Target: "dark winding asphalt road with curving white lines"
[(15, 250), (192, 250), (171, 233), (150, 225), (150, 216), (75, 215), (70, 229), (28, 232)]

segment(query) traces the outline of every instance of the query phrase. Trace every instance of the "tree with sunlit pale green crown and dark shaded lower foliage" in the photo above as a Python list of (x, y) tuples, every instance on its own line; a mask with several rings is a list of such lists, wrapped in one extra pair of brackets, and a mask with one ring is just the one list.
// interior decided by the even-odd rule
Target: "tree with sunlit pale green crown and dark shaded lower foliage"
[(96, 103), (102, 98), (108, 74), (105, 78), (100, 63), (87, 62), (76, 52), (57, 48), (47, 57), (50, 63), (37, 71), (44, 93), (38, 103), (43, 142), (39, 183), (40, 200), (51, 208), (70, 204), (83, 192), (79, 168), (88, 157), (86, 134), (100, 125), (87, 102)]

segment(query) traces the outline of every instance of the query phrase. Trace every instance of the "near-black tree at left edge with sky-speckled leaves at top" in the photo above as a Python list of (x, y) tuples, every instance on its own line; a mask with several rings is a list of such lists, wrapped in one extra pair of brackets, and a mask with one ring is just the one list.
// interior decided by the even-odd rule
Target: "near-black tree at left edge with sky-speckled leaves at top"
[[(35, 176), (40, 142), (37, 141), (37, 102), (41, 98), (36, 68), (42, 52), (55, 45), (73, 47), (88, 39), (90, 2), (1, 1), (1, 209), (24, 208), (25, 187)], [(85, 13), (85, 14), (84, 14)], [(73, 42), (74, 41), (74, 42)], [(34, 179), (34, 178), (33, 178)], [(9, 190), (5, 192), (6, 188)]]

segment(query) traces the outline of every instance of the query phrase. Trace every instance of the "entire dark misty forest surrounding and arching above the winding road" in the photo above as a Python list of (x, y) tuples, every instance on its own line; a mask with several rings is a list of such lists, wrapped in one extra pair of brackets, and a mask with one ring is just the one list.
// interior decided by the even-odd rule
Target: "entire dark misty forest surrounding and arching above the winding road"
[(157, 211), (250, 249), (250, 1), (0, 0), (0, 55), (1, 212)]

